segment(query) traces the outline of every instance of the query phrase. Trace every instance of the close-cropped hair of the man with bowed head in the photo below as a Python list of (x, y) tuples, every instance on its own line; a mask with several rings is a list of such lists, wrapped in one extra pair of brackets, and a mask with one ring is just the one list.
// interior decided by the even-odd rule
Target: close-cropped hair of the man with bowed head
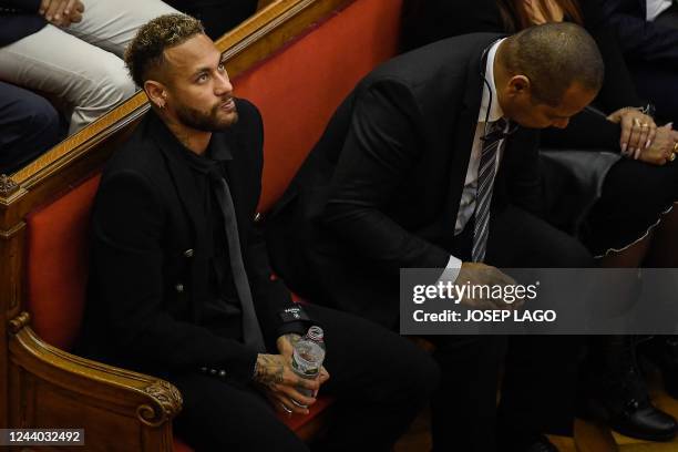
[(530, 27), (508, 38), (503, 64), (526, 75), (532, 96), (555, 106), (573, 84), (598, 92), (605, 76), (603, 56), (593, 38), (574, 23)]

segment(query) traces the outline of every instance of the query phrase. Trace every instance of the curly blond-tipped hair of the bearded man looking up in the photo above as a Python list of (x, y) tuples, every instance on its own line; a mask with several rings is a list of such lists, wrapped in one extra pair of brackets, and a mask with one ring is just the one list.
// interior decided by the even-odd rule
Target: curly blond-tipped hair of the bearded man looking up
[(143, 25), (125, 50), (125, 64), (134, 83), (143, 88), (148, 71), (163, 64), (165, 49), (201, 33), (205, 33), (201, 21), (186, 14), (161, 16)]

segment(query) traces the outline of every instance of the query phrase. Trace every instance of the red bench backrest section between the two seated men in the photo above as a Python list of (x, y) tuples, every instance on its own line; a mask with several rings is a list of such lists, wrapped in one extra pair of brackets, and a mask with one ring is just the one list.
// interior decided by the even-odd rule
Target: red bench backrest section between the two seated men
[(260, 210), (285, 192), (356, 83), (396, 54), (401, 3), (356, 1), (234, 81), (236, 95), (253, 101), (264, 117)]

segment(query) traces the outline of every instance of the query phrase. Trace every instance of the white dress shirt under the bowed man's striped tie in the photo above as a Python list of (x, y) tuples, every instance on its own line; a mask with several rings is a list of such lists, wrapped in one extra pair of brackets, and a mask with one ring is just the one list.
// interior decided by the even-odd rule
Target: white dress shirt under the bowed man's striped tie
[[(496, 41), (487, 52), (487, 63), (485, 66), (485, 80), (487, 83), (483, 83), (483, 96), (481, 99), (480, 112), (477, 113), (477, 124), (475, 126), (475, 135), (473, 136), (473, 144), (471, 146), (471, 158), (469, 160), (469, 167), (466, 168), (464, 189), (459, 204), (459, 213), (456, 214), (454, 235), (460, 234), (464, 229), (466, 223), (469, 223), (469, 219), (475, 212), (475, 197), (477, 195), (477, 168), (480, 166), (481, 152), (483, 148), (483, 142), (481, 138), (485, 135), (485, 127), (490, 123), (499, 121), (504, 116), (504, 112), (502, 111), (502, 107), (496, 99), (496, 85), (494, 83), (494, 56), (496, 55), (496, 50), (503, 40), (504, 39)], [(487, 85), (490, 85), (490, 89), (487, 89)], [(499, 143), (499, 152), (496, 153), (497, 168), (503, 153), (503, 145), (504, 138), (502, 138)], [(461, 265), (461, 259), (450, 256), (450, 260), (448, 261), (446, 266), (448, 270), (445, 271), (445, 279), (450, 278), (451, 280), (455, 280), (459, 276)]]

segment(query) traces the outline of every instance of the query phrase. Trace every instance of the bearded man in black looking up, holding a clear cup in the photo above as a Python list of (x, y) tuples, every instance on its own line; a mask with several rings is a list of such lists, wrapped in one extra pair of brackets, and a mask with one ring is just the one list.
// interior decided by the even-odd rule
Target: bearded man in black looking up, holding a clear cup
[[(84, 353), (176, 384), (175, 425), (197, 450), (307, 450), (274, 409), (307, 414), (320, 384), (339, 399), (323, 450), (388, 450), (436, 384), (433, 360), (378, 325), (295, 306), (271, 280), (255, 227), (261, 117), (233, 96), (198, 21), (151, 21), (126, 63), (153, 111), (96, 196)], [(290, 368), (310, 323), (325, 329), (329, 380)]]

